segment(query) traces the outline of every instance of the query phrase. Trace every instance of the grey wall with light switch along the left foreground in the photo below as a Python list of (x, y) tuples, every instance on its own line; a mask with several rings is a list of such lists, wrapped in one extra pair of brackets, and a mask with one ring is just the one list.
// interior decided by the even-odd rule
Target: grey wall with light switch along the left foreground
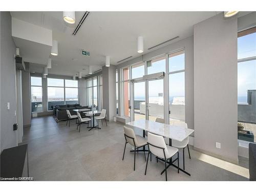
[[(17, 146), (17, 131), (13, 131), (16, 123), (16, 79), (15, 60), (16, 46), (11, 36), (11, 14), (0, 12), (1, 18), (1, 151)], [(10, 110), (7, 103), (10, 102)]]

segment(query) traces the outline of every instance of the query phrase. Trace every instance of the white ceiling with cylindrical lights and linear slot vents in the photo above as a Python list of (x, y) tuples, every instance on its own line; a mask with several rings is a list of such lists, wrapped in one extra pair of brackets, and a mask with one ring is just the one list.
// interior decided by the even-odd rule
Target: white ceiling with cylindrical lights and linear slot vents
[[(169, 44), (193, 35), (195, 24), (217, 13), (219, 12), (90, 12), (76, 36), (72, 36), (72, 33), (84, 12), (76, 12), (74, 25), (63, 21), (62, 12), (11, 12), (11, 15), (52, 30), (53, 39), (58, 41), (58, 56), (51, 56), (52, 69), (49, 73), (74, 75), (82, 71), (85, 76), (88, 74), (87, 66), (93, 66), (93, 71), (104, 66), (105, 55), (111, 57), (112, 65), (117, 65), (117, 61), (129, 56), (140, 56), (137, 53), (138, 36), (144, 37), (145, 54), (159, 47), (152, 50), (147, 48), (170, 38), (180, 36)], [(168, 43), (162, 47), (166, 45)], [(81, 49), (90, 51), (91, 56), (82, 56)], [(35, 63), (44, 64), (39, 60), (35, 60)], [(33, 69), (36, 70), (36, 67)]]

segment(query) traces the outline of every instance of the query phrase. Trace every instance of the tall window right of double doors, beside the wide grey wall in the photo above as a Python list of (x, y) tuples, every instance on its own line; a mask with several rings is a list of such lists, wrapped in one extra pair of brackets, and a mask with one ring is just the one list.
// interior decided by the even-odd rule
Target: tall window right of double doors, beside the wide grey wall
[(169, 123), (185, 121), (185, 53), (169, 54)]

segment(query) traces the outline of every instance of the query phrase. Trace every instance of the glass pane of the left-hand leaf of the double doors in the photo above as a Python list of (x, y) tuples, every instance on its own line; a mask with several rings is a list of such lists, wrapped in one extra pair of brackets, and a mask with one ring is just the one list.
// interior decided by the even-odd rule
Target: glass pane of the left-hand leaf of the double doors
[(146, 118), (145, 81), (134, 82), (134, 120)]

